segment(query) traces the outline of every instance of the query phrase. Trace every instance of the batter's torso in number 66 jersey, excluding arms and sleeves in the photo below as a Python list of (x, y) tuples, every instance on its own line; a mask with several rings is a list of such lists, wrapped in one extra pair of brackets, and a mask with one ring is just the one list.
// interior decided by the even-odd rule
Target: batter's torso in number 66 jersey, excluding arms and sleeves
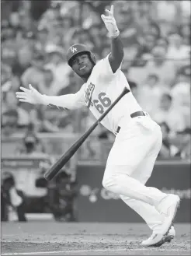
[[(84, 84), (84, 100), (92, 114), (99, 119), (99, 117), (110, 107), (114, 100), (123, 91), (123, 88), (127, 86), (129, 88), (127, 79), (123, 75), (123, 72), (119, 72), (113, 79), (105, 80), (99, 75), (99, 70), (94, 68), (92, 74), (89, 76), (88, 81)], [(131, 107), (138, 107), (137, 101), (134, 99), (132, 93), (130, 95), (123, 96), (120, 102), (116, 103), (113, 110), (109, 111), (109, 114), (104, 117), (102, 124), (110, 131), (114, 132), (120, 119), (128, 114)], [(132, 106), (133, 104), (133, 106)], [(134, 106), (134, 104), (136, 106)], [(139, 110), (139, 109), (137, 109)]]

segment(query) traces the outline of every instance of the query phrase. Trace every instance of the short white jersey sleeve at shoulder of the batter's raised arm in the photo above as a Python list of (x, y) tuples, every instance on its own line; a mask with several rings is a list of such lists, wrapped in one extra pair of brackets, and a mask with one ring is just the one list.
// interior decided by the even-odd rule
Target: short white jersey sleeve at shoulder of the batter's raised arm
[(106, 58), (103, 58), (101, 61), (99, 61), (99, 66), (98, 66), (98, 71), (100, 72), (100, 78), (101, 79), (106, 79), (106, 80), (111, 80), (113, 77), (115, 77), (121, 70), (121, 65), (120, 67), (116, 70), (115, 73), (113, 73), (113, 70), (111, 68), (111, 65), (109, 63), (109, 55), (106, 56)]

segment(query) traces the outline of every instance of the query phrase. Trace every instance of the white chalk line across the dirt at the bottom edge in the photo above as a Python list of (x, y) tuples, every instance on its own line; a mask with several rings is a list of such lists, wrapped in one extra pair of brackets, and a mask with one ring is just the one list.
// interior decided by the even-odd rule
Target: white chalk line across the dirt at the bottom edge
[(97, 250), (71, 250), (71, 251), (38, 251), (38, 252), (16, 252), (16, 253), (5, 253), (1, 254), (2, 256), (14, 256), (14, 255), (43, 255), (43, 254), (67, 254), (67, 253), (80, 253), (80, 252), (104, 252), (104, 251), (153, 251), (153, 249), (156, 249), (156, 251), (188, 251), (186, 249), (166, 249), (166, 248), (151, 248), (151, 247), (145, 247), (145, 248), (132, 248), (132, 249), (97, 249)]

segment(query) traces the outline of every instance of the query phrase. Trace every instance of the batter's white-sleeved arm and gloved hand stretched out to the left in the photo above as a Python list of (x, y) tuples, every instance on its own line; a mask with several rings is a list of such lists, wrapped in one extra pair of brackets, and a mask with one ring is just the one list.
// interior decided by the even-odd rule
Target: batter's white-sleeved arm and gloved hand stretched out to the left
[(62, 107), (64, 109), (75, 109), (82, 106), (80, 102), (80, 94), (67, 94), (62, 96), (47, 96), (40, 94), (33, 86), (29, 86), (30, 89), (20, 87), (23, 92), (17, 92), (16, 97), (19, 98), (21, 102), (27, 102), (31, 104), (43, 104), (50, 107)]

